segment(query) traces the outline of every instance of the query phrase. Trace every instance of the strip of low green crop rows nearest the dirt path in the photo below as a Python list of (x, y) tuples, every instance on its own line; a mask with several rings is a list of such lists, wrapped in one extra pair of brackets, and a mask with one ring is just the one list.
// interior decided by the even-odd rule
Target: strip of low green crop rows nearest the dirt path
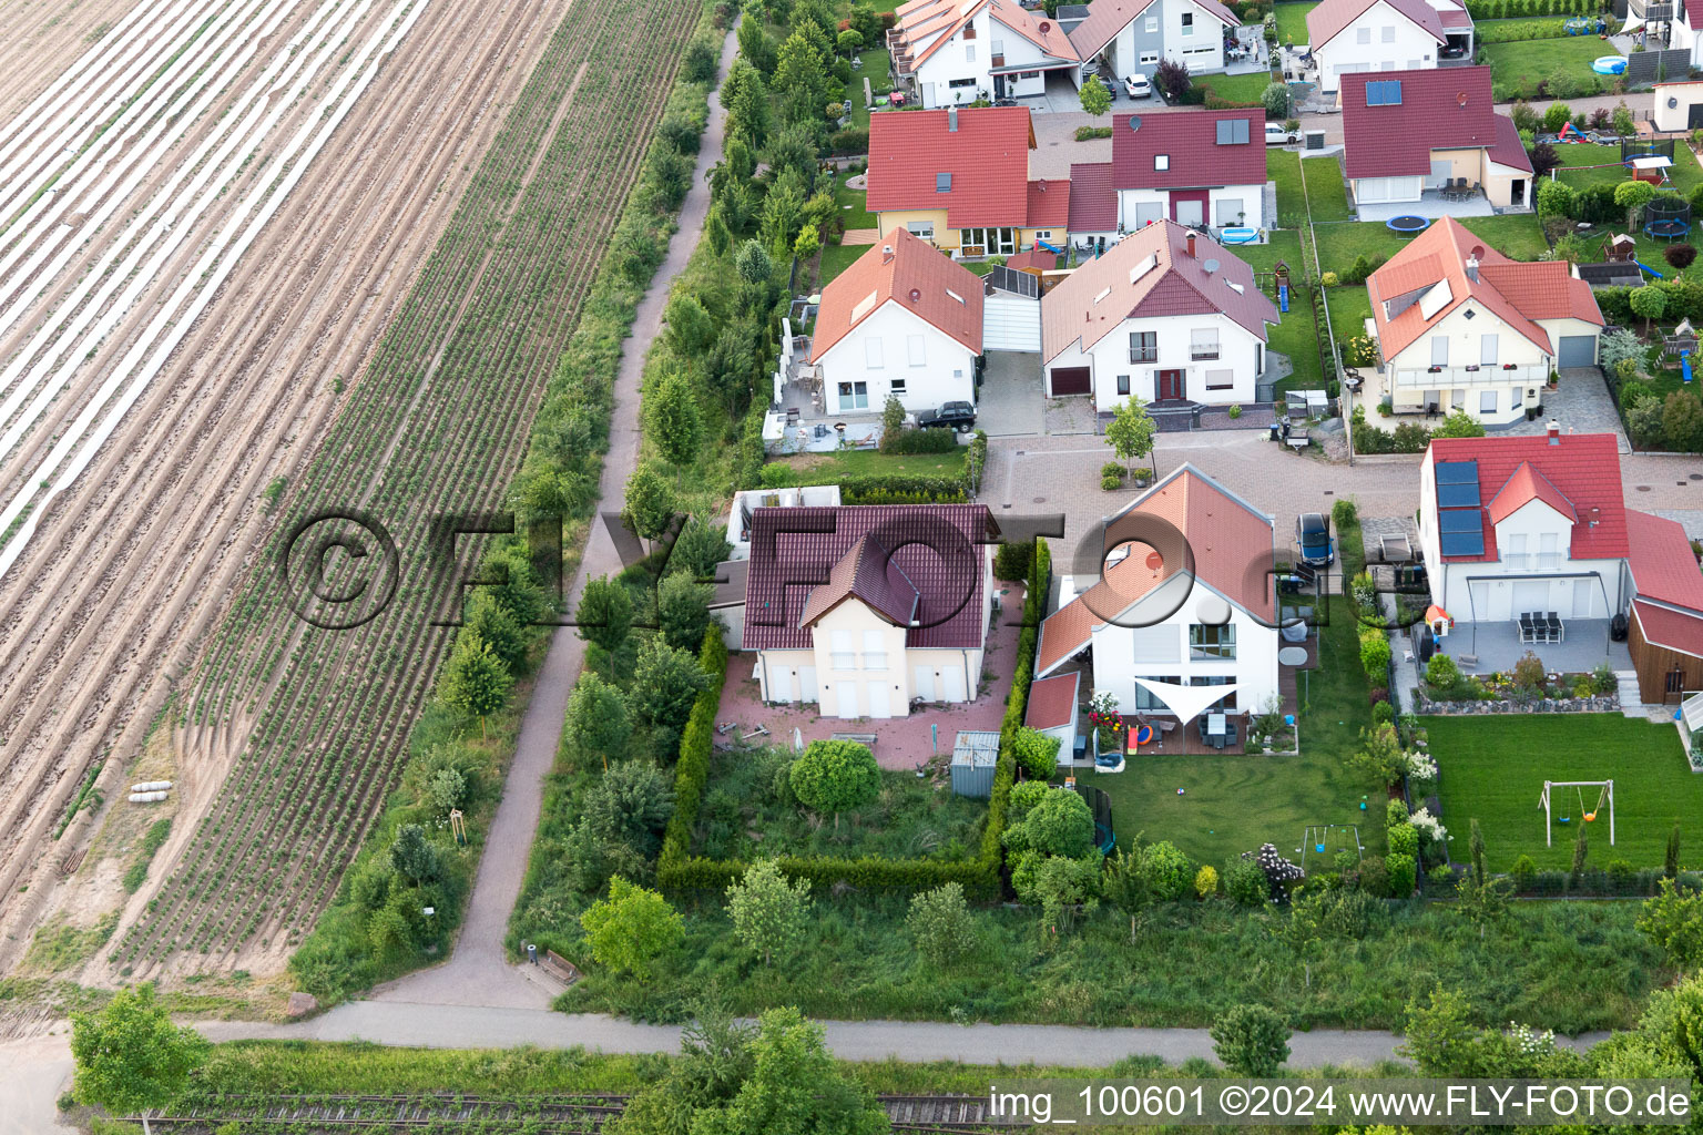
[[(564, 20), (186, 694), (187, 742), (230, 776), (114, 961), (281, 956), (330, 900), (395, 783), (450, 642), (431, 524), (490, 510), (528, 437), (700, 7), (623, 0)], [(395, 539), (392, 602), (354, 630), (298, 614), (291, 529), (363, 512)], [(375, 546), (376, 551), (376, 546)], [(373, 567), (381, 556), (375, 555)], [(344, 567), (353, 562), (344, 560)], [(361, 567), (361, 565), (354, 565)], [(342, 579), (342, 577), (339, 577)], [(368, 582), (378, 585), (378, 575)], [(208, 958), (211, 956), (211, 958)]]

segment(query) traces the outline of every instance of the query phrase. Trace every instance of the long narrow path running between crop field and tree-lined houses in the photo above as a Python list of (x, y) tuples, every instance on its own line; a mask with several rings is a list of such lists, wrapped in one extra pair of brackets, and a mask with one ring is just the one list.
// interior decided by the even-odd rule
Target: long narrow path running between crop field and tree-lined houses
[[(737, 43), (734, 29), (722, 41), (720, 70), (725, 75)], [(698, 163), (691, 189), (679, 208), (679, 228), (669, 240), (662, 267), (651, 281), (651, 289), (639, 301), (632, 337), (622, 351), (620, 373), (615, 379), (615, 412), (610, 422), (610, 451), (603, 458), (603, 476), (598, 497), (605, 509), (616, 509), (639, 463), (639, 383), (644, 373), (644, 349), (662, 327), (662, 310), (668, 305), (674, 277), (686, 267), (691, 250), (698, 245), (703, 221), (710, 211), (710, 189), (705, 174), (722, 153), (724, 112), (715, 94), (710, 94), (710, 117), (698, 148)], [(569, 590), (569, 609), (579, 602), (586, 580), (620, 570), (620, 556), (603, 524), (593, 524), (579, 562), (579, 573)], [(467, 919), (462, 924), (455, 953), (436, 968), (412, 973), (373, 992), (375, 1001), (421, 1002), (443, 1006), (504, 1006), (542, 1007), (550, 1002), (548, 987), (530, 978), (523, 967), (513, 967), (502, 950), (509, 914), (519, 898), (526, 875), (526, 858), (531, 854), (543, 807), (543, 778), (555, 762), (557, 742), (562, 737), (562, 718), (567, 696), (584, 665), (584, 642), (572, 628), (560, 628), (550, 638), (531, 701), (521, 718), (514, 759), (509, 764), (502, 801), (497, 805), (485, 836), (485, 849), (473, 880), (473, 895)]]

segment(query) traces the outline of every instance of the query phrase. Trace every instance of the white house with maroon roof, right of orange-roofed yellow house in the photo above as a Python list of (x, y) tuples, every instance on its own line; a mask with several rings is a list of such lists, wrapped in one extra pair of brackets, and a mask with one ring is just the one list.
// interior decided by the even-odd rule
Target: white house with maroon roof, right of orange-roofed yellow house
[(1114, 114), (1112, 187), (1126, 233), (1161, 220), (1190, 228), (1264, 228), (1270, 220), (1265, 112)]

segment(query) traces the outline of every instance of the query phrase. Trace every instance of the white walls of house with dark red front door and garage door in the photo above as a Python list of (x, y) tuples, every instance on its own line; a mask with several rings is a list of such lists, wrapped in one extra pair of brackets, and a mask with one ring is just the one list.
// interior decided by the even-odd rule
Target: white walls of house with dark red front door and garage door
[[(1196, 328), (1218, 330), (1218, 359), (1196, 362), (1189, 357)], [(1158, 362), (1129, 361), (1131, 332), (1158, 335)], [(1105, 335), (1085, 354), (1075, 347), (1059, 352), (1059, 357), (1049, 366), (1083, 366), (1087, 361), (1093, 371), (1093, 403), (1100, 410), (1112, 410), (1126, 402), (1126, 395), (1117, 393), (1119, 374), (1129, 374), (1132, 395), (1153, 402), (1158, 396), (1155, 371), (1177, 369), (1184, 371), (1184, 396), (1204, 405), (1228, 405), (1231, 402), (1253, 402), (1260, 374), (1260, 345), (1255, 335), (1224, 315), (1136, 318), (1124, 320), (1117, 330)], [(1207, 390), (1207, 371), (1231, 371), (1231, 386)]]

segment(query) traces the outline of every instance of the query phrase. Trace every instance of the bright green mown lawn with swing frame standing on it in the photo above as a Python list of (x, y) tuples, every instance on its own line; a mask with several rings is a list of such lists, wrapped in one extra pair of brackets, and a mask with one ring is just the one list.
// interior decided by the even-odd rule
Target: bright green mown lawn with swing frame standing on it
[[(1555, 825), (1555, 846), (1543, 844), (1543, 781), (1614, 781), (1614, 846), (1608, 846), (1608, 808), (1587, 830), (1591, 861), (1606, 866), (1625, 859), (1635, 868), (1662, 864), (1674, 820), (1698, 829), (1703, 817), (1703, 776), (1691, 773), (1672, 725), (1630, 721), (1618, 713), (1553, 716), (1425, 718), (1431, 752), (1442, 784), (1442, 822), (1454, 832), (1456, 858), (1477, 818), (1485, 836), (1490, 870), (1507, 871), (1529, 854), (1540, 868), (1567, 870), (1580, 827), (1579, 793), (1553, 798), (1557, 815), (1572, 824)], [(1557, 790), (1562, 791), (1562, 790)], [(1597, 790), (1582, 790), (1585, 810)], [(1703, 864), (1703, 830), (1686, 830), (1681, 863)]]

